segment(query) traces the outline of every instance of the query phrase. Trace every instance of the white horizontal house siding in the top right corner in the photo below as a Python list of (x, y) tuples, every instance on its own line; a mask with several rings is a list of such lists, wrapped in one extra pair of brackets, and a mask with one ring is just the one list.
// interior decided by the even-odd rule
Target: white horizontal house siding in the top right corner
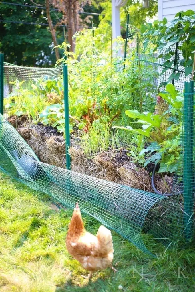
[(158, 19), (166, 17), (170, 21), (177, 12), (188, 9), (195, 11), (195, 0), (158, 0)]

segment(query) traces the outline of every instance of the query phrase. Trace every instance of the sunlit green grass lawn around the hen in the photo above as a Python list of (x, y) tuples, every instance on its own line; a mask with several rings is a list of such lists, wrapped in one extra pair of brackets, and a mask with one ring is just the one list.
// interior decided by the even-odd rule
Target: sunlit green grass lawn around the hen
[[(92, 283), (65, 248), (72, 210), (58, 209), (43, 193), (10, 179), (0, 171), (0, 291), (194, 291), (195, 250), (172, 243), (164, 247), (145, 235), (157, 254), (149, 259), (115, 232), (114, 266), (96, 272)], [(83, 215), (87, 231), (100, 223)]]

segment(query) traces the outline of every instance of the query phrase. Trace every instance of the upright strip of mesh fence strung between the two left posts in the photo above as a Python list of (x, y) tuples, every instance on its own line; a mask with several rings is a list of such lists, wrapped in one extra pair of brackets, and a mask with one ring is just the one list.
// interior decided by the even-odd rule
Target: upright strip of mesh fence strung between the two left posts
[(15, 90), (14, 82), (24, 81), (22, 84), (23, 89), (31, 89), (31, 84), (40, 78), (54, 79), (62, 74), (62, 67), (56, 68), (39, 68), (39, 67), (25, 67), (13, 65), (4, 62), (4, 97)]

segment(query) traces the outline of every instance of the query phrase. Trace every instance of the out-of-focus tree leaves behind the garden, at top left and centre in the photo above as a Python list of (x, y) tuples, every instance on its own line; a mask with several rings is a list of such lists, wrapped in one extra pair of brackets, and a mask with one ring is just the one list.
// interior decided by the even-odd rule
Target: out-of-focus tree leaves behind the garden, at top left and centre
[[(10, 3), (16, 3), (10, 0)], [(44, 0), (24, 2), (18, 0), (17, 4), (27, 4), (45, 6)], [(52, 8), (52, 6), (51, 6)], [(99, 37), (99, 48), (110, 48), (111, 42), (111, 18), (112, 7), (109, 1), (92, 1), (92, 5), (83, 7), (85, 12), (101, 13), (100, 16), (93, 16), (94, 26), (97, 28)], [(150, 8), (142, 8), (141, 1), (128, 0), (127, 4), (121, 8), (121, 31), (125, 30), (127, 13), (130, 13), (130, 24), (140, 27), (147, 17), (151, 18), (156, 14), (158, 5), (156, 0), (150, 1)], [(61, 13), (51, 11), (51, 18), (55, 25), (61, 19)], [(86, 14), (81, 15), (84, 20)], [(52, 51), (52, 38), (48, 26), (27, 25), (14, 22), (34, 22), (45, 23), (46, 11), (23, 6), (10, 4), (0, 4), (0, 51), (4, 53), (5, 61), (23, 66), (54, 66), (56, 62), (55, 54)], [(11, 22), (9, 22), (11, 21)], [(88, 26), (91, 25), (89, 22)], [(56, 38), (58, 44), (63, 42), (63, 28), (56, 27)]]

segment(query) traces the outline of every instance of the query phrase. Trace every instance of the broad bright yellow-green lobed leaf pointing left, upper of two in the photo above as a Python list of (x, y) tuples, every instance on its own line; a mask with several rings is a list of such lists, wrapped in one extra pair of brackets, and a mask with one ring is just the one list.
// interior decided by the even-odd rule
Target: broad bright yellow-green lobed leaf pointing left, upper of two
[(141, 124), (150, 124), (156, 128), (160, 128), (161, 125), (161, 117), (158, 114), (153, 114), (153, 113), (147, 113), (145, 114), (140, 114), (137, 110), (126, 110), (125, 114), (133, 119), (139, 119), (138, 122)]

